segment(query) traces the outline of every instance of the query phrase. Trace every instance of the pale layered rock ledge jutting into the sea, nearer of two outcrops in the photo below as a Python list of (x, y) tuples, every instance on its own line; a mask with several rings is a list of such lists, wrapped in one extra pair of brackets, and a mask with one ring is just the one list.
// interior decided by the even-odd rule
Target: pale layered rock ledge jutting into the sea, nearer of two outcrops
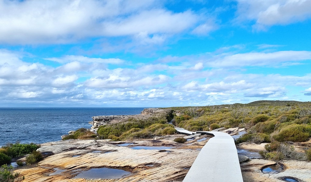
[(127, 118), (132, 115), (112, 115), (112, 116), (93, 116), (93, 121), (90, 121), (89, 124), (92, 125), (91, 129), (98, 128), (101, 125), (106, 125), (112, 122), (119, 122), (123, 118)]

